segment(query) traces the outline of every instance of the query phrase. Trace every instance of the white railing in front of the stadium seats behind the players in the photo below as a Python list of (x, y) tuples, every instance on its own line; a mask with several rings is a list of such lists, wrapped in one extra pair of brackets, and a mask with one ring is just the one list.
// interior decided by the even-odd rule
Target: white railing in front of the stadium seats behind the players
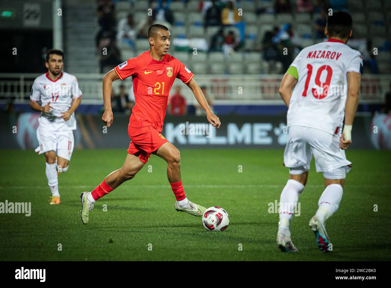
[[(75, 74), (83, 92), (83, 103), (103, 103), (102, 78), (104, 74)], [(0, 101), (13, 98), (15, 103), (28, 103), (32, 83), (39, 74), (0, 73)], [(205, 85), (215, 104), (282, 104), (278, 88), (283, 75), (280, 74), (197, 74), (194, 80), (199, 86)], [(391, 75), (363, 75), (361, 79), (361, 103), (383, 103), (384, 94), (389, 91)], [(115, 92), (123, 84), (126, 91), (131, 87), (131, 77), (113, 83)], [(182, 93), (194, 103), (190, 89), (175, 80), (174, 86), (181, 85)], [(174, 91), (174, 90), (172, 90)]]

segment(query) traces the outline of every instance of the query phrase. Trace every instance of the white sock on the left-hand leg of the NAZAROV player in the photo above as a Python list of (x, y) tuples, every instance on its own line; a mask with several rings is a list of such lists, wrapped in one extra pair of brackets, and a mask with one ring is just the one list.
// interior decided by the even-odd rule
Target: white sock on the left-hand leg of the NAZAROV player
[(292, 221), (295, 207), (299, 201), (299, 195), (304, 190), (304, 185), (299, 181), (288, 179), (282, 189), (280, 196), (280, 222), (278, 222), (278, 233), (291, 237), (289, 226)]

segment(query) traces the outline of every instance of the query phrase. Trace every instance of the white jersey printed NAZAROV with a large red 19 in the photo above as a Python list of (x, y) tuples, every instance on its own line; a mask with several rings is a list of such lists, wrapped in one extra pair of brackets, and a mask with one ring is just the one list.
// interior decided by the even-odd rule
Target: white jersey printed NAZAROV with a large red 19
[(338, 134), (343, 125), (347, 72), (362, 71), (362, 56), (342, 41), (329, 39), (300, 51), (291, 66), (298, 71), (287, 125), (301, 125)]

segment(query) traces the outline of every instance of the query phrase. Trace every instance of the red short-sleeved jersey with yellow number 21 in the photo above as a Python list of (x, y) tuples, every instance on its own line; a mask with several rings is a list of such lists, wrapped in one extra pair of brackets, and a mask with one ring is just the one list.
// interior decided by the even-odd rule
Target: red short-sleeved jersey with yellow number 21
[(178, 59), (169, 54), (163, 60), (152, 59), (149, 51), (129, 59), (115, 67), (121, 80), (132, 76), (136, 105), (129, 119), (129, 127), (152, 125), (161, 132), (166, 116), (169, 92), (175, 78), (183, 83), (192, 80), (194, 74)]

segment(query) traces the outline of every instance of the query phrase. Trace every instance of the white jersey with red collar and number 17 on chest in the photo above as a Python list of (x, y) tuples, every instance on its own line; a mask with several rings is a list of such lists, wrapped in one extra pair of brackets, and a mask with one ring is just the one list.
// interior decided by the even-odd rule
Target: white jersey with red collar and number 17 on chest
[(49, 113), (41, 113), (39, 117), (39, 127), (47, 130), (75, 130), (75, 113), (65, 121), (61, 112), (68, 111), (71, 107), (72, 98), (81, 98), (82, 93), (79, 89), (75, 76), (66, 72), (61, 72), (56, 81), (48, 78), (48, 73), (38, 76), (32, 85), (30, 100), (34, 102), (41, 101), (41, 106), (47, 105), (50, 101)]

